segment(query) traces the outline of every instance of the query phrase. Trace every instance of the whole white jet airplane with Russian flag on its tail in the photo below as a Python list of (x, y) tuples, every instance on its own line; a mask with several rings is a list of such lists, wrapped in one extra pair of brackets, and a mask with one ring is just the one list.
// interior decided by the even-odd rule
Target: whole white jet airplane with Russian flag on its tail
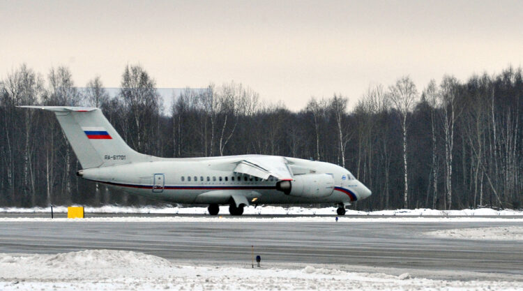
[(131, 149), (95, 107), (20, 106), (54, 112), (83, 179), (167, 202), (229, 204), (232, 216), (250, 204), (333, 203), (337, 214), (371, 191), (344, 167), (283, 156), (160, 158)]

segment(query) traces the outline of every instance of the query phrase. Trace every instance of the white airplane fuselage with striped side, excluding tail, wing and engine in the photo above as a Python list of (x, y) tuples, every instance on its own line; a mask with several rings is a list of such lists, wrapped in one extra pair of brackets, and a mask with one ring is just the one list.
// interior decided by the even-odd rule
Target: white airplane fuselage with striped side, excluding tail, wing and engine
[[(256, 204), (350, 203), (370, 195), (370, 191), (343, 167), (299, 158), (287, 160), (297, 170), (307, 169), (315, 174), (330, 174), (334, 179), (332, 192), (325, 197), (286, 195), (277, 190), (277, 179), (261, 179), (234, 172), (233, 162), (238, 161), (238, 158), (248, 157), (252, 155), (162, 158), (154, 162), (123, 163), (84, 169), (79, 171), (79, 174), (84, 179), (120, 188), (126, 192), (187, 204), (227, 204), (230, 191), (241, 192), (249, 202)], [(230, 166), (224, 166), (228, 160), (231, 161)], [(224, 191), (224, 194), (220, 195), (220, 191)]]

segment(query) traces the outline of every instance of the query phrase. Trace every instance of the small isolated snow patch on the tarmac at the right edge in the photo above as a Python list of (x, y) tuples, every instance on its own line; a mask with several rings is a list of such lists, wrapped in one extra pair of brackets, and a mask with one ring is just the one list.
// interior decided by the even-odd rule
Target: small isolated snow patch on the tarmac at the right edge
[(436, 230), (434, 232), (426, 232), (426, 234), (450, 239), (523, 241), (523, 227), (520, 226), (458, 228), (455, 230)]

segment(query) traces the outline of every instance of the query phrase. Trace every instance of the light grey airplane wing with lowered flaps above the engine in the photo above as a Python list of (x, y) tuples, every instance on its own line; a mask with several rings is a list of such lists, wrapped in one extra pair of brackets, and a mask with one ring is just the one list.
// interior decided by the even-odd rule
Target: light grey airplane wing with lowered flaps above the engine
[(282, 156), (253, 156), (238, 161), (234, 172), (248, 174), (261, 179), (275, 177), (279, 180), (292, 180), (288, 161)]

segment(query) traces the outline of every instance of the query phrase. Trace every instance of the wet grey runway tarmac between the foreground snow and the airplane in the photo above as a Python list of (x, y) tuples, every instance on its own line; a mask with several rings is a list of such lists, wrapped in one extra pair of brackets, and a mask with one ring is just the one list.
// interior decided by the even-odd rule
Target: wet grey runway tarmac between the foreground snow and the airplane
[[(0, 253), (107, 248), (169, 260), (250, 264), (251, 246), (271, 263), (343, 264), (523, 276), (518, 241), (441, 239), (425, 232), (521, 222), (0, 222)], [(523, 278), (523, 277), (522, 277)]]

